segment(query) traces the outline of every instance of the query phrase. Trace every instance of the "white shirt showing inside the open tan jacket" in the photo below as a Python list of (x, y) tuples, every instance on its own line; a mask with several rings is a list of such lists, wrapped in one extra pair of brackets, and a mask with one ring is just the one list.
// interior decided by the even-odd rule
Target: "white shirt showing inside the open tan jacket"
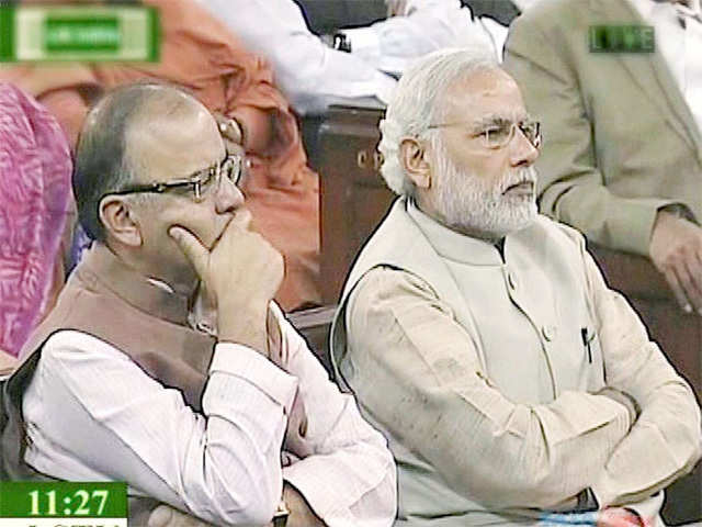
[(689, 7), (653, 0), (630, 0), (644, 21), (654, 26), (660, 49), (680, 93), (702, 132), (702, 11), (700, 0)]

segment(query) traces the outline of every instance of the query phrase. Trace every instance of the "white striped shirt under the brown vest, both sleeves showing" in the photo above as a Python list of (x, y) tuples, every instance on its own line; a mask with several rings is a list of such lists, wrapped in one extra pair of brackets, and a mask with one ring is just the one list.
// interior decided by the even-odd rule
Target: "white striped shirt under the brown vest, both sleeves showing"
[[(385, 440), (274, 314), (285, 369), (217, 344), (202, 414), (113, 346), (76, 330), (54, 334), (23, 399), (25, 461), (64, 480), (126, 481), (131, 494), (216, 525), (268, 523), (283, 480), (330, 527), (392, 525), (395, 467)], [(304, 434), (286, 431), (299, 423), (296, 412)]]

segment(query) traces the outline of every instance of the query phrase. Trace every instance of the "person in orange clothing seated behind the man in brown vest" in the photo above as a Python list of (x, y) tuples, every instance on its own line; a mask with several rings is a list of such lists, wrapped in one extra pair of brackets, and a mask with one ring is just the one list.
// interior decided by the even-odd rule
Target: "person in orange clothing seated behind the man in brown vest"
[(193, 0), (131, 3), (159, 11), (158, 63), (12, 64), (0, 67), (0, 79), (48, 108), (71, 146), (88, 110), (105, 90), (160, 79), (192, 91), (229, 120), (228, 130), (246, 149), (249, 177), (241, 190), (248, 209), (257, 231), (285, 258), (278, 302), (285, 311), (320, 304), (319, 178), (307, 167), (295, 116), (273, 83), (271, 68)]

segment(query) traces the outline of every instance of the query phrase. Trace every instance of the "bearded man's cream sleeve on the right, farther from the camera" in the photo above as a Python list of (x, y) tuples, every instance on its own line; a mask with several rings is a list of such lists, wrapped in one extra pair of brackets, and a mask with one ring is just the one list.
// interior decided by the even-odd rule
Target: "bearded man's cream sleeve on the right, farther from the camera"
[[(638, 419), (612, 451), (591, 485), (600, 506), (646, 498), (691, 471), (702, 452), (700, 408), (689, 384), (618, 292), (585, 254), (592, 290), (605, 382), (633, 396)], [(655, 452), (655, 455), (652, 455)]]

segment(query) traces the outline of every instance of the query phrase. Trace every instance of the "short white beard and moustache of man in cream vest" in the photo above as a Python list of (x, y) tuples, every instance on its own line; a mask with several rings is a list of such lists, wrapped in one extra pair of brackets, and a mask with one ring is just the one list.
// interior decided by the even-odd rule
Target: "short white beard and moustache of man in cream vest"
[[(441, 143), (440, 141), (438, 143)], [(476, 173), (460, 170), (442, 144), (437, 145), (437, 195), (434, 206), (446, 226), (471, 236), (499, 239), (520, 231), (536, 217), (535, 191), (531, 197), (505, 195), (520, 181), (536, 184), (533, 166), (507, 171), (492, 182)]]

